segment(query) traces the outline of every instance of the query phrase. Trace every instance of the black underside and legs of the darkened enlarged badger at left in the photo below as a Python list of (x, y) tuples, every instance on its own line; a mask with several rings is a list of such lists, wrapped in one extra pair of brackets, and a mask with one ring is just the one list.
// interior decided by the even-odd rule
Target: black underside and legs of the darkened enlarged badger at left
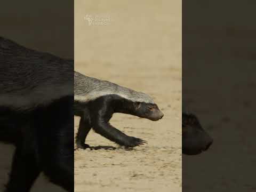
[[(73, 97), (31, 111), (1, 108), (0, 139), (16, 146), (6, 192), (29, 191), (40, 172), (74, 191)], [(9, 129), (9, 131), (6, 131)]]

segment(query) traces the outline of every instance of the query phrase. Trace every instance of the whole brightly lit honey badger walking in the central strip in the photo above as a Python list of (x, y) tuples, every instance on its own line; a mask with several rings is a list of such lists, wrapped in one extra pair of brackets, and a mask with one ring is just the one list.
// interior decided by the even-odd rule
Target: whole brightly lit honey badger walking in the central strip
[(149, 95), (117, 84), (87, 77), (75, 71), (74, 115), (80, 116), (77, 148), (88, 148), (85, 139), (91, 128), (103, 137), (125, 147), (143, 145), (146, 141), (130, 137), (109, 124), (114, 113), (161, 119), (164, 114)]

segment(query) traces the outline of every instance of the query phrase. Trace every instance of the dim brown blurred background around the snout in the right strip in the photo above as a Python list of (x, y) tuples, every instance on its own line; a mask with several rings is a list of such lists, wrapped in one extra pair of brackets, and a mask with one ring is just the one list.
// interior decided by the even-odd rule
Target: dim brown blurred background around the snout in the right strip
[(182, 191), (256, 191), (255, 1), (182, 1), (182, 105), (213, 137)]

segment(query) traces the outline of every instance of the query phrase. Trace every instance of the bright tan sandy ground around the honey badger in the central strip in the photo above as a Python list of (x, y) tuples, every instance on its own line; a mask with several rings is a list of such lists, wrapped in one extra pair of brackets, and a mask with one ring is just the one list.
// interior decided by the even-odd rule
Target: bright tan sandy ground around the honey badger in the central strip
[[(111, 21), (89, 26), (86, 14)], [(114, 115), (111, 124), (148, 141), (134, 150), (91, 131), (97, 150), (75, 151), (75, 191), (181, 191), (181, 2), (75, 1), (75, 70), (148, 93), (165, 114)]]

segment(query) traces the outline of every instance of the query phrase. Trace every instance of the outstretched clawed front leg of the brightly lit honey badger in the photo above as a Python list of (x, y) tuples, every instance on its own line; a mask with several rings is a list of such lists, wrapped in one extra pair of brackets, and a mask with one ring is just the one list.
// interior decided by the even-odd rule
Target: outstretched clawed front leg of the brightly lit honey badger
[(135, 147), (143, 145), (146, 141), (130, 137), (110, 125), (109, 120), (114, 113), (113, 99), (111, 97), (101, 97), (94, 101), (91, 111), (91, 123), (93, 130), (103, 137), (116, 142), (125, 147)]

